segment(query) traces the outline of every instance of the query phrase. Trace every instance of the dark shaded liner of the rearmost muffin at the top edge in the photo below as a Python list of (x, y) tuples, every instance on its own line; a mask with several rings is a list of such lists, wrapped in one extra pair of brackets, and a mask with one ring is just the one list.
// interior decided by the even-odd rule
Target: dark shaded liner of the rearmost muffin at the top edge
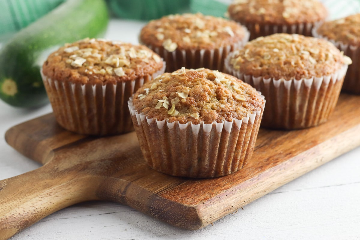
[[(233, 19), (234, 21), (237, 21)], [(274, 33), (289, 33), (289, 34), (301, 34), (304, 36), (311, 36), (311, 30), (316, 24), (315, 23), (299, 23), (299, 24), (261, 24), (261, 23), (253, 23), (253, 22), (244, 22), (237, 21), (243, 26), (245, 26), (250, 32), (249, 41), (256, 39), (261, 36), (268, 36)]]

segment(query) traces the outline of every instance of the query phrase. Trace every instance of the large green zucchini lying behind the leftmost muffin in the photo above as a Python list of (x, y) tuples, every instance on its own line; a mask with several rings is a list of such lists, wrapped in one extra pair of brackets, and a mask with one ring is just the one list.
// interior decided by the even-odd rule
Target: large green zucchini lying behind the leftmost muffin
[(48, 98), (40, 76), (47, 56), (60, 45), (104, 34), (103, 0), (67, 0), (23, 28), (0, 49), (0, 98), (14, 107), (40, 107)]

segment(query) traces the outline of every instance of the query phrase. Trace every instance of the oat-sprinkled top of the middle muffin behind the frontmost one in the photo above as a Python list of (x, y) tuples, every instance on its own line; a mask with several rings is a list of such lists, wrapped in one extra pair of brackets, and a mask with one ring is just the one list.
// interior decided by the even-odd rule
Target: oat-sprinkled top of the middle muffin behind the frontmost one
[(150, 21), (140, 33), (140, 41), (145, 45), (163, 46), (169, 52), (175, 49), (215, 49), (244, 38), (248, 38), (245, 27), (201, 13), (168, 15)]

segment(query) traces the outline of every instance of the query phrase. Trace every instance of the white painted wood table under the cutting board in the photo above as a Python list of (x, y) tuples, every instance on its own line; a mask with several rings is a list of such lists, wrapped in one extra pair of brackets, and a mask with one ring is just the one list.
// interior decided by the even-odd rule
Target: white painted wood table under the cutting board
[[(143, 24), (112, 20), (105, 37), (137, 43)], [(49, 112), (50, 105), (24, 110), (0, 101), (0, 135)], [(0, 179), (38, 167), (1, 137)], [(197, 231), (167, 225), (118, 203), (87, 202), (53, 213), (11, 238), (24, 239), (360, 239), (360, 148)]]

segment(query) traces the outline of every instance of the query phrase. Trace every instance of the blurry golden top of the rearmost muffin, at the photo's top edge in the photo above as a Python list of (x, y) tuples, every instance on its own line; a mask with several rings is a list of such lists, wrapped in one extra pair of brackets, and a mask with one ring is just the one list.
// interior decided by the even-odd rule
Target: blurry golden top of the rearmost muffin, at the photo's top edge
[(285, 25), (318, 22), (328, 14), (317, 0), (235, 0), (228, 12), (238, 22)]

